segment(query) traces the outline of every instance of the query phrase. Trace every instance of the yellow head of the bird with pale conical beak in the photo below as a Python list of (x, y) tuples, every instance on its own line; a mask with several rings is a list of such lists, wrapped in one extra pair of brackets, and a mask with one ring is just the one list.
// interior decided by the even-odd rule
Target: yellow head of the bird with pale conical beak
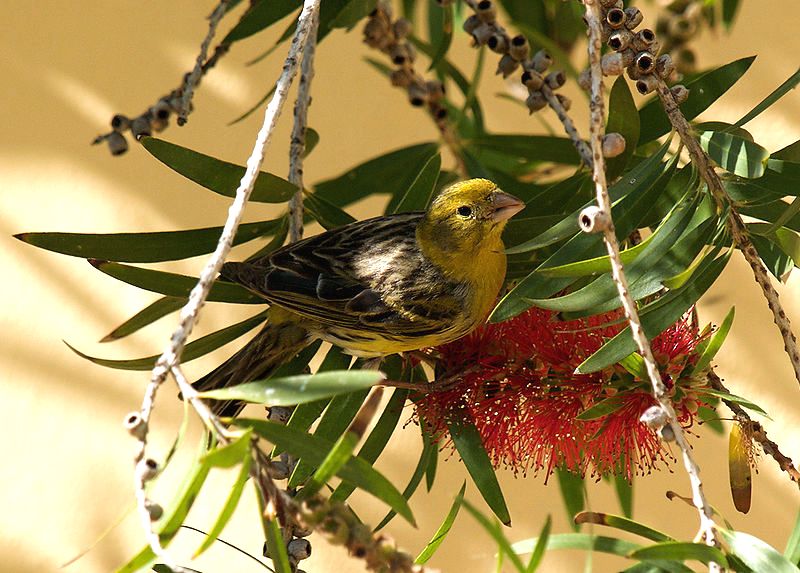
[[(442, 191), (417, 227), (417, 239), (434, 261), (480, 267), (490, 254), (505, 255), (500, 235), (525, 203), (486, 179), (470, 179)], [(454, 269), (457, 274), (458, 269)]]

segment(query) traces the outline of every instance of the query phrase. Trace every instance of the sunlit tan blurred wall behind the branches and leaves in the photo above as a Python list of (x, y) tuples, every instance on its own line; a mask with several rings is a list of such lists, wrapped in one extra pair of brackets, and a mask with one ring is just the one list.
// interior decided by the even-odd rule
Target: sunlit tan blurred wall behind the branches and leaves
[[(697, 44), (700, 65), (752, 54), (758, 59), (703, 117), (735, 121), (798, 66), (800, 6), (796, 0), (742, 4), (731, 34), (706, 33), (701, 38)], [(228, 200), (181, 178), (135, 145), (122, 157), (111, 157), (105, 148), (89, 145), (96, 134), (107, 131), (114, 113), (138, 114), (178, 84), (193, 64), (206, 32), (204, 17), (213, 3), (84, 0), (11, 2), (5, 8), (0, 23), (0, 52), (4, 54), (0, 59), (0, 268), (4, 275), (0, 285), (0, 424), (5, 442), (0, 464), (0, 571), (56, 570), (112, 528), (85, 557), (66, 568), (70, 572), (109, 571), (144, 545), (132, 512), (134, 443), (121, 421), (127, 412), (138, 409), (147, 375), (95, 366), (62, 341), (103, 357), (146, 356), (162, 349), (176, 318), (162, 319), (123, 341), (99, 344), (155, 296), (102, 275), (81, 259), (24, 245), (12, 234), (138, 232), (222, 224)], [(650, 11), (655, 7), (644, 4), (643, 10), (646, 22), (652, 20)], [(253, 67), (244, 65), (273, 40), (274, 35), (264, 33), (236, 44), (204, 80), (189, 123), (171, 127), (163, 137), (243, 164), (261, 112), (236, 125), (228, 123), (274, 83), (282, 49)], [(335, 31), (318, 50), (310, 125), (321, 141), (306, 162), (307, 184), (438, 135), (424, 112), (410, 107), (402, 92), (363, 61), (367, 54), (381, 57), (362, 44), (359, 29)], [(474, 54), (464, 34), (456, 33), (451, 54), (463, 69), (471, 69)], [(494, 97), (506, 88), (490, 68), (486, 66), (481, 88), (487, 127), (495, 132), (541, 130), (539, 122), (528, 118), (521, 107)], [(575, 115), (585, 131), (586, 114), (581, 107), (575, 106)], [(545, 116), (556, 125), (554, 117)], [(265, 165), (281, 176), (287, 172), (290, 127), (289, 112)], [(770, 150), (800, 139), (800, 96), (790, 93), (748, 128)], [(350, 212), (360, 218), (381, 207), (375, 200), (356, 205)], [(261, 220), (276, 212), (277, 207), (252, 205), (246, 218)], [(159, 268), (196, 275), (202, 263), (199, 258), (189, 259)], [(800, 275), (795, 272), (786, 285), (777, 288), (795, 332), (800, 332)], [(734, 257), (706, 295), (700, 318), (718, 323), (732, 305), (736, 320), (718, 356), (718, 371), (732, 392), (753, 398), (771, 414), (773, 420), (764, 423), (770, 436), (786, 454), (800, 459), (800, 390), (766, 304), (739, 257)], [(245, 313), (233, 306), (210, 305), (196, 335), (239, 320)], [(201, 375), (242, 342), (191, 362), (187, 373)], [(258, 414), (257, 408), (254, 413)], [(165, 386), (156, 409), (155, 452), (169, 447), (181, 416), (176, 392)], [(185, 458), (199, 439), (198, 424), (195, 419), (191, 422)], [(796, 485), (773, 460), (762, 456), (754, 476), (753, 508), (747, 516), (738, 514), (730, 501), (727, 440), (703, 428), (692, 431), (698, 434), (691, 441), (715, 507), (735, 527), (782, 549), (800, 505)], [(416, 463), (419, 442), (414, 428), (399, 430), (377, 464), (401, 488)], [(389, 527), (389, 533), (412, 554), (430, 539), (466, 478), (457, 458), (444, 461), (448, 457), (447, 452), (441, 455), (440, 478), (433, 491), (419, 491), (412, 498), (418, 529), (400, 520)], [(178, 461), (180, 466), (187, 460)], [(162, 496), (168, 496), (179, 482), (179, 473), (170, 472), (159, 483), (157, 491)], [(512, 510), (514, 526), (506, 532), (512, 540), (537, 535), (548, 514), (553, 516), (554, 531), (570, 530), (555, 479), (545, 485), (543, 476), (503, 471), (500, 478)], [(208, 529), (231, 480), (231, 475), (214, 474), (187, 523)], [(590, 482), (588, 487), (591, 509), (619, 511), (612, 487), (602, 482)], [(681, 467), (637, 479), (634, 517), (690, 539), (696, 533), (696, 514), (683, 503), (668, 501), (664, 495), (668, 489), (689, 495)], [(474, 490), (468, 488), (467, 497), (483, 507)], [(385, 508), (372, 499), (355, 500), (367, 521), (375, 523), (383, 516)], [(222, 537), (260, 555), (263, 539), (255, 512), (252, 491), (247, 489), (244, 503)], [(182, 562), (188, 563), (200, 541), (196, 533), (180, 535), (174, 547), (177, 555), (186, 557)], [(312, 541), (314, 554), (303, 562), (303, 569), (360, 570), (360, 563), (349, 560), (343, 550), (327, 546), (322, 539)], [(443, 571), (491, 571), (493, 547), (475, 521), (462, 513), (431, 565)], [(602, 556), (593, 559), (597, 571), (615, 570), (621, 564)], [(585, 556), (579, 553), (552, 552), (543, 570), (582, 571), (584, 562)], [(206, 573), (261, 570), (220, 544), (192, 566)]]

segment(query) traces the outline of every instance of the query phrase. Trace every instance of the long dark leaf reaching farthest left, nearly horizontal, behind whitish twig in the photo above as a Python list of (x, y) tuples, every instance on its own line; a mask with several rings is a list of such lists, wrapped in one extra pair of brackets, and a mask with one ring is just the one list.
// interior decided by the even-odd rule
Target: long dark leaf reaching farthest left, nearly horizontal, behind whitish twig
[[(281, 219), (245, 223), (239, 227), (234, 245), (270, 235)], [(174, 261), (213, 251), (222, 227), (157, 233), (20, 233), (15, 238), (41, 249), (81, 257), (131, 263)]]

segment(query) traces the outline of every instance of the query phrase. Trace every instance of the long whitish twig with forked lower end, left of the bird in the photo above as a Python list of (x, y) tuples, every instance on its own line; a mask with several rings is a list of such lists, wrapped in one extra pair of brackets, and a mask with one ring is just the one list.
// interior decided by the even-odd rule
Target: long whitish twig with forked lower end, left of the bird
[[(305, 42), (309, 36), (312, 16), (318, 12), (319, 2), (320, 0), (306, 0), (303, 4), (303, 10), (298, 19), (295, 36), (290, 45), (289, 53), (286, 56), (283, 71), (281, 72), (281, 75), (278, 78), (278, 82), (275, 86), (275, 93), (267, 105), (266, 110), (264, 111), (264, 123), (258, 132), (255, 145), (253, 146), (253, 151), (247, 160), (247, 169), (242, 177), (241, 182), (239, 183), (238, 189), (236, 190), (236, 197), (228, 210), (228, 216), (220, 235), (219, 242), (217, 243), (217, 248), (200, 273), (200, 278), (198, 279), (197, 284), (189, 294), (188, 302), (181, 310), (180, 323), (178, 328), (172, 334), (169, 346), (156, 361), (155, 367), (151, 372), (150, 383), (147, 385), (147, 389), (145, 390), (141, 410), (138, 413), (140, 418), (138, 426), (141, 428), (141, 431), (136, 434), (139, 440), (139, 448), (135, 456), (135, 486), (139, 515), (142, 521), (142, 526), (147, 533), (148, 543), (150, 544), (153, 552), (171, 567), (174, 565), (174, 563), (169, 555), (166, 554), (166, 551), (161, 545), (158, 534), (152, 527), (152, 519), (148, 509), (149, 501), (147, 499), (144, 487), (146, 481), (152, 479), (153, 474), (155, 473), (153, 469), (154, 462), (152, 462), (152, 460), (148, 460), (145, 457), (145, 453), (147, 449), (148, 424), (150, 422), (150, 416), (155, 403), (156, 393), (170, 371), (175, 373), (179, 385), (188, 385), (188, 382), (182, 384), (182, 382), (185, 382), (185, 379), (182, 377), (180, 369), (178, 368), (180, 364), (181, 353), (183, 352), (183, 348), (186, 345), (186, 341), (191, 334), (194, 325), (197, 323), (200, 309), (205, 303), (208, 293), (211, 290), (211, 286), (214, 283), (214, 279), (219, 273), (225, 258), (230, 252), (233, 243), (233, 237), (236, 235), (236, 230), (239, 226), (239, 222), (241, 221), (244, 208), (247, 205), (247, 200), (253, 191), (256, 178), (258, 177), (261, 165), (264, 161), (264, 152), (266, 146), (268, 145), (272, 136), (272, 132), (275, 129), (278, 117), (283, 109), (283, 104), (287, 99), (289, 86), (291, 85), (292, 80), (297, 72), (298, 55), (302, 51), (303, 46), (305, 45)], [(185, 391), (188, 391), (188, 389)], [(192, 392), (189, 392), (187, 399), (189, 399), (189, 396), (191, 396), (192, 405), (195, 407), (195, 410), (198, 411), (201, 417), (203, 417), (204, 413), (207, 416), (210, 415), (210, 412), (203, 410), (204, 404), (202, 400), (197, 398), (196, 395), (193, 395)], [(203, 404), (203, 406), (200, 406), (201, 404)], [(211, 420), (213, 419), (213, 416), (211, 416), (211, 418), (204, 418), (204, 420), (206, 419)], [(155, 467), (157, 468), (157, 466)]]

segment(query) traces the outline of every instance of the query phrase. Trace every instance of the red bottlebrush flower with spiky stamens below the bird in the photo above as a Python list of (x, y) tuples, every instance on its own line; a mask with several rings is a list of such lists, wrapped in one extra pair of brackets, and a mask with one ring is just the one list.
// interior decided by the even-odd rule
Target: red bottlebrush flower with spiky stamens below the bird
[[(556, 467), (628, 478), (649, 473), (669, 457), (659, 436), (639, 421), (655, 404), (649, 382), (621, 367), (574, 373), (624, 328), (622, 318), (608, 313), (561, 321), (532, 308), (437, 347), (439, 389), (417, 400), (417, 417), (440, 441), (447, 439), (448, 422), (473, 423), (495, 466), (523, 473), (549, 476)], [(691, 425), (699, 398), (680, 377), (696, 362), (701, 339), (687, 315), (652, 343), (684, 425)], [(578, 418), (604, 400), (609, 408)]]

